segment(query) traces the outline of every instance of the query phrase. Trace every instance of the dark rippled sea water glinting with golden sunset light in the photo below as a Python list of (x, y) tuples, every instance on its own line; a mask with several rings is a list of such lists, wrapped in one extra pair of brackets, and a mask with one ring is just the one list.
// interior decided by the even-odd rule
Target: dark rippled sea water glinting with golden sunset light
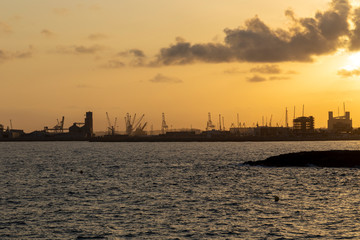
[(241, 164), (329, 149), (360, 142), (0, 143), (0, 239), (359, 239), (360, 170)]

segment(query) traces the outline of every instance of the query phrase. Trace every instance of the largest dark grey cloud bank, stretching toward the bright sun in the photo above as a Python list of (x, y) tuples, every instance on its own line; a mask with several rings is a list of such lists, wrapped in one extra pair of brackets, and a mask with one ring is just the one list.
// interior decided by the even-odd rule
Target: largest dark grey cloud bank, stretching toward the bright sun
[[(354, 15), (355, 14), (355, 15)], [(292, 25), (272, 29), (254, 17), (237, 29), (225, 29), (223, 43), (192, 44), (183, 39), (164, 47), (149, 66), (183, 65), (196, 62), (311, 62), (315, 56), (336, 52), (351, 37), (351, 47), (360, 48), (360, 10), (351, 14), (348, 0), (333, 0), (326, 11), (298, 18), (287, 10)], [(349, 18), (356, 28), (349, 29)], [(357, 45), (358, 44), (358, 45)]]

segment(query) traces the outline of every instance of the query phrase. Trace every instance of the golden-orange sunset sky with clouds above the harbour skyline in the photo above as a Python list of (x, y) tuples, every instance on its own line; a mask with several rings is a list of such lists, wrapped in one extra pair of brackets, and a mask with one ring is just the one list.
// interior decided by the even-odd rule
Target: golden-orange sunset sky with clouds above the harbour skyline
[[(0, 124), (159, 129), (328, 111), (360, 127), (360, 4), (347, 0), (11, 0), (0, 8)], [(149, 128), (148, 128), (149, 130)]]

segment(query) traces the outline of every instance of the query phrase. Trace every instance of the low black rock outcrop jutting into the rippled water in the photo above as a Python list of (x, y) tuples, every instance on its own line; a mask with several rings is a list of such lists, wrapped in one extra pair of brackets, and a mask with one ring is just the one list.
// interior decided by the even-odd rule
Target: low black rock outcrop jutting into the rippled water
[(250, 166), (269, 167), (336, 167), (360, 168), (360, 151), (331, 150), (281, 154), (261, 161), (248, 161)]

